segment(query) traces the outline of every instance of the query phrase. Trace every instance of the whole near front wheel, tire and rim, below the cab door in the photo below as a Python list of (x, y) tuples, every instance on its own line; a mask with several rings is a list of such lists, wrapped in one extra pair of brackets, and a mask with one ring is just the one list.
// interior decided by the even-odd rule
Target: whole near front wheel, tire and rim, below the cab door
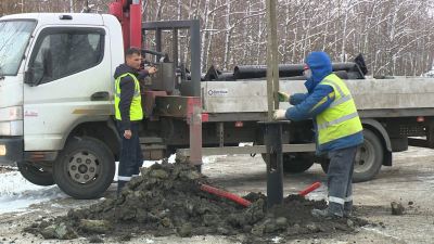
[(93, 138), (74, 138), (59, 153), (53, 177), (59, 188), (78, 200), (99, 196), (113, 181), (115, 159), (111, 150)]

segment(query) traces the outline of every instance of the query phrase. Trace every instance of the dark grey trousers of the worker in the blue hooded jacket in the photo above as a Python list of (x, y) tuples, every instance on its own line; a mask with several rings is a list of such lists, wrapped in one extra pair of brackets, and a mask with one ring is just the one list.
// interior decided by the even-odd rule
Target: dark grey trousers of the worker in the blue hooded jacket
[(329, 206), (327, 210), (339, 216), (350, 213), (353, 207), (352, 178), (358, 145), (332, 151), (327, 171)]

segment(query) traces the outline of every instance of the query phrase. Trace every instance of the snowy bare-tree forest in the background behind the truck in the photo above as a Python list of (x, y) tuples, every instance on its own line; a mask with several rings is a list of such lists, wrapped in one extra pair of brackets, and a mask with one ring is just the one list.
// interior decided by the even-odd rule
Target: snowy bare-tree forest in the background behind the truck
[[(0, 16), (80, 12), (86, 0), (1, 0)], [(88, 0), (91, 13), (110, 13), (110, 0)], [(266, 64), (265, 0), (142, 0), (142, 20), (201, 21), (202, 72)], [(332, 62), (363, 53), (369, 75), (420, 76), (434, 59), (434, 0), (278, 0), (280, 64), (304, 63), (312, 51)], [(171, 36), (164, 34), (166, 52)], [(154, 48), (153, 35), (144, 46)], [(189, 65), (189, 35), (179, 34), (180, 63)]]

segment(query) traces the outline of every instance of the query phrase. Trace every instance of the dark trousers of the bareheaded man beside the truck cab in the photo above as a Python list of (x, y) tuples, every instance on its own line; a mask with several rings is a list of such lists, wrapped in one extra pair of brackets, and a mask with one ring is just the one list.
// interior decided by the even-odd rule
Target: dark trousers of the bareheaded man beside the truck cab
[(139, 141), (139, 124), (131, 123), (131, 138), (125, 139), (124, 125), (122, 121), (116, 121), (117, 130), (120, 136), (120, 155), (119, 155), (119, 170), (117, 181), (117, 194), (120, 189), (133, 176), (139, 176), (139, 168), (143, 165), (143, 154), (140, 149)]

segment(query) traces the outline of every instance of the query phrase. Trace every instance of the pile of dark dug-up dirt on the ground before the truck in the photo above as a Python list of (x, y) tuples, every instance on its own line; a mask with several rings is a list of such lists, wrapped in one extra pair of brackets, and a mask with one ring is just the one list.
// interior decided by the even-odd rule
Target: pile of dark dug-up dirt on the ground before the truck
[[(357, 227), (367, 224), (367, 221), (354, 217), (336, 221), (314, 218), (310, 210), (327, 207), (324, 201), (289, 195), (282, 205), (267, 209), (264, 194), (250, 193), (244, 198), (251, 204), (244, 207), (201, 191), (201, 184), (213, 185), (210, 179), (197, 172), (186, 159), (175, 164), (154, 164), (150, 168), (142, 168), (141, 176), (132, 178), (118, 198), (105, 200), (85, 209), (71, 209), (67, 216), (34, 224), (27, 231), (47, 232), (47, 227), (53, 229), (55, 224), (61, 224), (64, 230), (71, 227), (69, 230), (89, 240), (101, 237), (101, 233), (104, 233), (104, 239), (116, 241), (128, 241), (141, 234), (220, 234), (243, 235), (242, 242), (252, 243), (275, 236), (299, 239), (306, 234), (311, 237), (312, 233), (318, 236), (331, 235), (355, 231)], [(93, 220), (103, 222), (92, 223)], [(85, 221), (103, 229), (86, 228)]]

